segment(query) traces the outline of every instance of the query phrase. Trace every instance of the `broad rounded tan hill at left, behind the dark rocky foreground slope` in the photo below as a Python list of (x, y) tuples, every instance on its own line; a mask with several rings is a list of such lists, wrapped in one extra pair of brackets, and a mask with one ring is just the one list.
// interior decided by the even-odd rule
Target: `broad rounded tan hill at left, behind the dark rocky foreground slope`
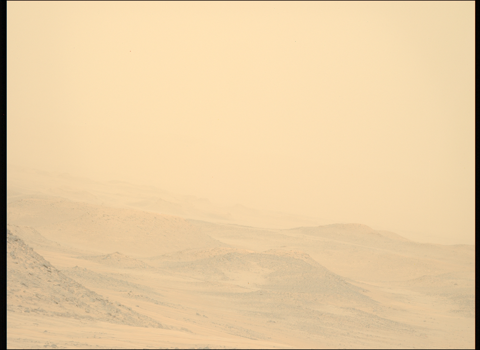
[(133, 256), (225, 246), (186, 220), (171, 215), (109, 208), (48, 196), (11, 201), (8, 222), (35, 226), (62, 246)]

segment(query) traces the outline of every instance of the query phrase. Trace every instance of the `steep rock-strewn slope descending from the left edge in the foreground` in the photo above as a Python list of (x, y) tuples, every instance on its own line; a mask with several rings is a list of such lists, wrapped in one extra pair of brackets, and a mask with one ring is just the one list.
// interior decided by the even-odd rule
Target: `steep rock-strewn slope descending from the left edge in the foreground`
[(155, 320), (108, 300), (64, 275), (10, 230), (7, 231), (7, 253), (10, 312), (163, 328)]

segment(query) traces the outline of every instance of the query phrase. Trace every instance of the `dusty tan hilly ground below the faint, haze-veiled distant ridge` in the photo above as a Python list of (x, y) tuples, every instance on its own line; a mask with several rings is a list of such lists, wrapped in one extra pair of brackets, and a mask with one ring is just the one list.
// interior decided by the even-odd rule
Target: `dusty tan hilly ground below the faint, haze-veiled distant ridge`
[(475, 347), (474, 246), (12, 193), (8, 347)]

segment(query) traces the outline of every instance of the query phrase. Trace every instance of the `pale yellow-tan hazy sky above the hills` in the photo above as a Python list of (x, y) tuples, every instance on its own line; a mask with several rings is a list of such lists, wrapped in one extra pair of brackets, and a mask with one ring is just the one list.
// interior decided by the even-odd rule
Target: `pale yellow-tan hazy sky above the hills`
[(474, 242), (474, 1), (8, 1), (8, 162)]

